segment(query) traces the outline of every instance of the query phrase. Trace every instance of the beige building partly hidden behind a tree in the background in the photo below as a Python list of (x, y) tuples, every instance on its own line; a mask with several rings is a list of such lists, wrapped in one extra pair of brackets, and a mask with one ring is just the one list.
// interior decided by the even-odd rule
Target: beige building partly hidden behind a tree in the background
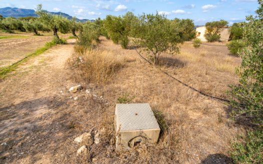
[[(200, 26), (196, 28), (196, 37), (201, 39), (202, 41), (207, 41), (204, 37), (205, 29), (205, 26)], [(228, 41), (230, 36), (229, 27), (222, 27), (222, 30), (219, 33), (219, 35), (220, 41)]]

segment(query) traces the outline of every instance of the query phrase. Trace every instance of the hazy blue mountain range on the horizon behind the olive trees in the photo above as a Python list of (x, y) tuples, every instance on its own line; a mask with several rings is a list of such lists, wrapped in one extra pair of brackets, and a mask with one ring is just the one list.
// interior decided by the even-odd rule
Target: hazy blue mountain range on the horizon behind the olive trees
[[(48, 11), (49, 12), (49, 11)], [(57, 14), (57, 15), (62, 15), (65, 16), (69, 19), (72, 18), (71, 15), (64, 13), (64, 12), (50, 12), (53, 14)], [(4, 17), (8, 17), (8, 16), (13, 16), (16, 18), (19, 17), (25, 17), (25, 16), (38, 16), (35, 13), (34, 9), (25, 9), (25, 8), (17, 8), (17, 7), (5, 7), (5, 8), (0, 8), (0, 14)], [(94, 21), (94, 20), (89, 20), (89, 19), (78, 19), (77, 21), (81, 21), (81, 22), (85, 22), (85, 21)]]

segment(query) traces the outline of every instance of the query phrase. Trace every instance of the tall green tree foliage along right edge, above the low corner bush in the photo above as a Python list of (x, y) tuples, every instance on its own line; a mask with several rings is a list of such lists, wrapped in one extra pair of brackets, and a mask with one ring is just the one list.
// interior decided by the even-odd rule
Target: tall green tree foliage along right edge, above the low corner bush
[(236, 71), (240, 84), (230, 85), (229, 95), (233, 118), (245, 118), (263, 125), (263, 2), (258, 2), (257, 15), (247, 16), (243, 28), (246, 47), (240, 54), (242, 62)]

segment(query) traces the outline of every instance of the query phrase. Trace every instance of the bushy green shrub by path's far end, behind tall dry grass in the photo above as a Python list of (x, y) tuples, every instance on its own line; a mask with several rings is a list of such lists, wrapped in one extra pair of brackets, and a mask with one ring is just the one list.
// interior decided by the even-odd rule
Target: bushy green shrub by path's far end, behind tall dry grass
[(78, 44), (92, 48), (93, 41), (99, 42), (99, 26), (95, 22), (87, 21), (80, 32)]

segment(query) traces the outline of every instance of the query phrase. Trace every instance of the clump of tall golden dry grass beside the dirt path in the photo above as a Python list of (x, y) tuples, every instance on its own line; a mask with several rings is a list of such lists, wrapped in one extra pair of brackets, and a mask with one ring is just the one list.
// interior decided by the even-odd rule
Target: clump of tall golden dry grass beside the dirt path
[(70, 60), (75, 66), (75, 79), (85, 80), (97, 84), (110, 81), (125, 65), (125, 57), (106, 50), (85, 50), (81, 46), (75, 47), (76, 57)]

